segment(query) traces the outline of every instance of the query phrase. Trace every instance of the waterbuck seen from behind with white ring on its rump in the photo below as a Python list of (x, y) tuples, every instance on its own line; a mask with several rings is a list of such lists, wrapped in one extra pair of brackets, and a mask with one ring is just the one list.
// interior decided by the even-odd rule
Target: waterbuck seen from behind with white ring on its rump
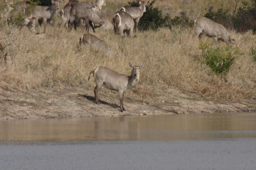
[(132, 35), (134, 21), (133, 18), (126, 12), (118, 11), (112, 18), (114, 31), (116, 34)]

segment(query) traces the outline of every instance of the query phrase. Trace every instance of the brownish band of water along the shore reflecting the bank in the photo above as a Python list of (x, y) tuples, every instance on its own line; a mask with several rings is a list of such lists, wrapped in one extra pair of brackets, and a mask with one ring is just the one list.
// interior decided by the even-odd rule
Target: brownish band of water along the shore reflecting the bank
[(255, 138), (256, 113), (0, 121), (0, 142)]

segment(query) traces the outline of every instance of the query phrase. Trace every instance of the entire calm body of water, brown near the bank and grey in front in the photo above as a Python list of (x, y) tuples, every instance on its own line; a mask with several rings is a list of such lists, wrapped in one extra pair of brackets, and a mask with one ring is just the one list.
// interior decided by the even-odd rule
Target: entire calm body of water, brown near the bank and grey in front
[(0, 170), (255, 170), (256, 113), (0, 121)]

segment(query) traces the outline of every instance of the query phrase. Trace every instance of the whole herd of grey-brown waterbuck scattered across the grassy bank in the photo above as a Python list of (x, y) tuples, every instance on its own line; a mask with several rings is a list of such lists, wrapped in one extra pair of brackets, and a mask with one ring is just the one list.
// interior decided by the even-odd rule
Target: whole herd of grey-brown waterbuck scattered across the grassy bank
[[(6, 20), (9, 17), (10, 11), (13, 9), (12, 6), (14, 1), (15, 0), (7, 3), (6, 0), (7, 5), (4, 9)], [(25, 18), (23, 26), (27, 26), (31, 32), (35, 32), (35, 22), (41, 20), (44, 25), (44, 33), (46, 33), (46, 25), (52, 23), (57, 10), (60, 8), (60, 3), (62, 2), (63, 0), (52, 0), (50, 6), (36, 6), (32, 10), (31, 15)], [(28, 2), (26, 1), (23, 3), (23, 6), (25, 7), (27, 4)], [(137, 32), (139, 20), (144, 12), (146, 12), (147, 4), (143, 1), (138, 1), (138, 4), (138, 7), (125, 6), (120, 8), (119, 11), (113, 15), (111, 23), (107, 16), (101, 14), (102, 7), (106, 6), (105, 0), (96, 0), (95, 3), (69, 1), (64, 8), (58, 12), (62, 18), (60, 26), (64, 26), (68, 31), (73, 26), (75, 28), (78, 25), (84, 27), (87, 34), (83, 34), (80, 37), (80, 46), (82, 46), (82, 44), (88, 44), (92, 49), (110, 55), (111, 50), (108, 43), (93, 34), (89, 34), (90, 27), (93, 33), (95, 33), (95, 28), (101, 27), (106, 31), (113, 29), (115, 34), (131, 36), (133, 34), (133, 29)], [(22, 10), (25, 12), (26, 8), (22, 8)], [(3, 15), (2, 18), (4, 18)], [(235, 44), (235, 40), (231, 38), (224, 26), (206, 17), (198, 17), (195, 19), (194, 27), (195, 33), (199, 38), (205, 34), (212, 37), (216, 42), (222, 40), (227, 44)], [(88, 80), (90, 80), (90, 75), (92, 73), (96, 81), (94, 96), (97, 104), (100, 103), (98, 92), (101, 86), (104, 85), (107, 88), (119, 92), (120, 111), (125, 110), (123, 105), (124, 92), (137, 84), (139, 81), (139, 70), (140, 68), (143, 68), (144, 65), (133, 66), (129, 63), (129, 66), (133, 68), (130, 76), (119, 74), (106, 67), (98, 67), (90, 72)]]

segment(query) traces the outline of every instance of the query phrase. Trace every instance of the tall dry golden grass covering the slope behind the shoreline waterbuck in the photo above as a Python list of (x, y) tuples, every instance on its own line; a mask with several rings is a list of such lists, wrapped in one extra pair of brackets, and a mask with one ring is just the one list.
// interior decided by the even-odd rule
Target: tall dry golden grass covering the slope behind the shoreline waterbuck
[[(0, 86), (18, 89), (63, 85), (91, 88), (94, 82), (87, 81), (91, 70), (105, 66), (129, 74), (128, 63), (132, 62), (145, 66), (141, 70), (140, 83), (128, 93), (138, 100), (153, 102), (154, 97), (165, 95), (168, 88), (211, 100), (242, 101), (256, 97), (256, 63), (250, 55), (250, 47), (256, 44), (256, 35), (252, 32), (230, 33), (243, 55), (238, 56), (229, 71), (228, 83), (197, 60), (201, 55), (200, 41), (192, 28), (162, 28), (157, 32), (133, 34), (132, 37), (98, 29), (95, 35), (109, 43), (110, 56), (92, 51), (87, 46), (79, 48), (79, 38), (84, 33), (82, 29), (67, 32), (58, 26), (47, 26), (46, 34), (31, 34), (22, 29), (8, 49), (12, 50), (15, 63), (9, 59), (7, 67), (0, 66)], [(5, 33), (0, 30), (0, 34)], [(202, 41), (212, 42), (208, 37)], [(226, 46), (224, 42), (213, 44)]]

